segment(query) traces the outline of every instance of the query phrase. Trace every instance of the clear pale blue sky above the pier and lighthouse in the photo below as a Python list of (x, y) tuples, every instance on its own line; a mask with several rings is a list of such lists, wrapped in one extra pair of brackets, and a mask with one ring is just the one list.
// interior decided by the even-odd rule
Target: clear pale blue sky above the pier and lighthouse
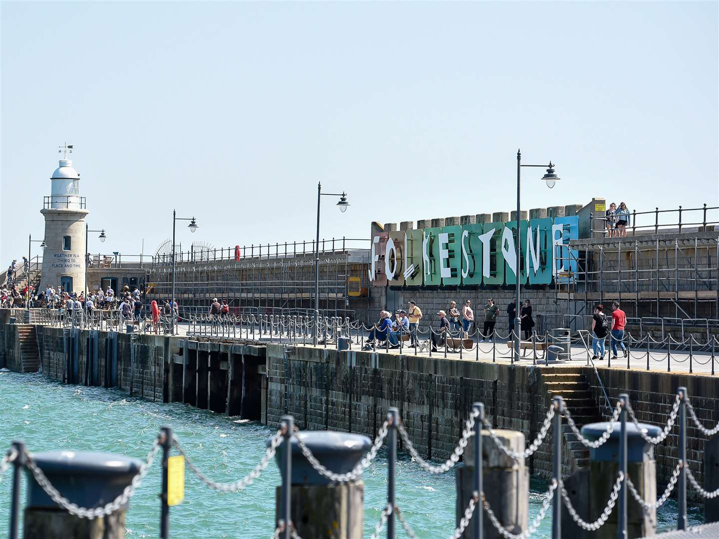
[(64, 141), (91, 252), (311, 239), (318, 180), (324, 237), (509, 211), (518, 147), (524, 208), (716, 206), (718, 5), (4, 1), (0, 262)]

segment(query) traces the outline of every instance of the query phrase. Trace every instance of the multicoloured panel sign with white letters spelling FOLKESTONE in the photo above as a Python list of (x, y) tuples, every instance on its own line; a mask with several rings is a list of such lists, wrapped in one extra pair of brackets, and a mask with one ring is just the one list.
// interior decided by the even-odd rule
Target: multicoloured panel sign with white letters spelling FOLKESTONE
[(383, 232), (372, 237), (370, 281), (375, 286), (549, 285), (577, 271), (579, 217)]

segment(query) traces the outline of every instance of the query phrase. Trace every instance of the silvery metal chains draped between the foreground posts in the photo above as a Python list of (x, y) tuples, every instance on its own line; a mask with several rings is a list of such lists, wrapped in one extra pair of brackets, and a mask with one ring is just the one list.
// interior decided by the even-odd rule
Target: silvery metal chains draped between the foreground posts
[[(669, 419), (667, 420), (667, 423), (664, 425), (664, 428), (662, 428), (661, 433), (659, 436), (648, 436), (644, 430), (641, 428), (638, 428), (638, 433), (641, 434), (642, 438), (644, 438), (645, 441), (651, 443), (652, 445), (656, 445), (658, 443), (661, 443), (667, 438), (667, 435), (672, 430), (672, 427), (676, 423), (677, 420), (677, 413), (679, 412), (679, 407), (682, 405), (682, 402), (686, 405), (687, 410), (689, 411), (690, 418), (692, 422), (695, 424), (696, 428), (700, 430), (705, 436), (713, 436), (716, 433), (719, 433), (719, 423), (715, 425), (713, 428), (706, 428), (705, 425), (702, 423), (702, 421), (697, 417), (697, 413), (692, 406), (692, 402), (690, 401), (689, 397), (687, 395), (684, 395), (682, 391), (677, 392), (675, 395), (674, 403), (672, 405), (672, 409), (669, 413)], [(611, 436), (611, 433), (613, 430), (615, 430), (615, 423), (622, 411), (623, 403), (622, 401), (618, 401), (617, 405), (613, 409), (613, 415), (611, 417), (611, 420), (608, 424), (608, 427), (606, 430), (596, 439), (596, 440), (589, 440), (585, 438), (585, 436), (582, 435), (579, 428), (577, 428), (576, 423), (574, 423), (574, 420), (572, 419), (572, 415), (569, 413), (569, 411), (566, 408), (563, 408), (561, 412), (564, 413), (564, 417), (567, 418), (567, 423), (569, 424), (569, 427), (571, 428), (572, 432), (577, 436), (579, 441), (582, 442), (587, 447), (590, 448), (598, 448), (602, 446), (604, 443), (608, 441), (608, 439)], [(633, 423), (637, 426), (638, 420), (636, 418), (636, 414), (634, 413), (633, 409), (631, 408), (631, 405), (626, 406), (626, 412), (628, 414), (628, 417), (631, 418)], [(538, 435), (536, 438), (529, 444), (529, 446), (524, 451), (513, 451), (510, 448), (506, 447), (505, 444), (500, 440), (497, 433), (492, 428), (492, 425), (490, 422), (486, 419), (482, 420), (482, 424), (486, 428), (487, 432), (490, 434), (490, 438), (495, 443), (495, 445), (500, 448), (501, 451), (503, 451), (507, 456), (510, 457), (510, 459), (513, 459), (514, 461), (521, 461), (522, 459), (526, 459), (528, 456), (531, 456), (537, 448), (541, 445), (542, 441), (544, 441), (544, 438), (546, 437), (546, 434), (549, 432), (549, 426), (551, 425), (551, 420), (554, 418), (554, 416), (558, 413), (557, 410), (557, 403), (553, 402), (549, 409), (546, 412), (546, 416), (544, 418), (544, 422), (542, 423), (541, 429), (539, 430)], [(469, 442), (470, 438), (473, 436), (473, 429), (475, 428), (475, 422), (477, 418), (479, 418), (480, 413), (477, 410), (473, 410), (472, 413), (470, 413), (469, 418), (464, 422), (464, 429), (462, 430), (462, 436), (460, 436), (459, 441), (457, 442), (457, 446), (455, 446), (454, 451), (452, 451), (451, 456), (449, 459), (447, 459), (443, 464), (439, 464), (438, 466), (434, 466), (432, 464), (429, 464), (425, 459), (423, 459), (416, 448), (414, 447), (411, 438), (409, 437), (409, 434), (404, 427), (401, 418), (399, 419), (398, 425), (395, 425), (398, 433), (400, 434), (401, 439), (403, 440), (406, 450), (408, 453), (410, 453), (413, 462), (418, 464), (418, 466), (421, 467), (421, 469), (428, 471), (430, 474), (444, 474), (450, 469), (454, 467), (457, 462), (459, 462), (459, 458), (464, 453), (464, 448), (467, 447), (467, 443)], [(301, 449), (301, 452), (303, 456), (307, 459), (309, 464), (315, 469), (319, 474), (326, 477), (326, 479), (329, 479), (331, 482), (334, 483), (347, 483), (347, 482), (353, 482), (357, 479), (360, 479), (362, 476), (362, 473), (370, 466), (371, 462), (375, 459), (377, 456), (377, 453), (379, 449), (383, 446), (383, 443), (385, 442), (385, 439), (388, 436), (388, 430), (390, 428), (390, 421), (385, 421), (383, 425), (381, 426), (380, 430), (377, 433), (377, 437), (375, 438), (374, 443), (372, 443), (372, 446), (370, 448), (370, 451), (368, 451), (365, 456), (362, 458), (361, 461), (359, 461), (359, 464), (352, 469), (352, 471), (349, 471), (345, 474), (336, 474), (333, 471), (326, 468), (326, 466), (323, 466), (320, 464), (319, 460), (316, 459), (316, 457), (313, 455), (312, 451), (306, 444), (302, 441), (300, 436), (295, 436), (295, 439), (298, 443), (299, 448)], [(283, 427), (284, 428), (284, 427)], [(242, 477), (241, 479), (237, 479), (234, 482), (229, 483), (219, 483), (215, 482), (214, 480), (210, 479), (208, 476), (203, 474), (200, 469), (198, 469), (197, 466), (195, 466), (191, 459), (188, 456), (188, 453), (185, 451), (183, 446), (181, 446), (180, 441), (177, 437), (173, 435), (173, 440), (171, 441), (171, 446), (173, 446), (175, 449), (177, 449), (178, 453), (184, 456), (186, 465), (188, 468), (193, 472), (195, 476), (207, 487), (211, 489), (215, 489), (219, 492), (239, 492), (245, 489), (246, 487), (249, 487), (250, 484), (252, 484), (257, 477), (262, 474), (262, 471), (267, 468), (267, 465), (270, 463), (270, 461), (275, 456), (275, 453), (277, 451), (277, 448), (283, 443), (283, 436), (286, 434), (283, 432), (283, 428), (280, 428), (272, 438), (270, 438), (270, 445), (267, 447), (267, 451), (265, 453), (265, 456), (262, 457), (260, 460), (260, 463), (255, 466), (252, 471), (247, 474), (247, 476)], [(295, 428), (295, 430), (298, 430)], [(35, 460), (32, 457), (32, 453), (29, 453), (29, 451), (25, 450), (25, 465), (27, 468), (32, 472), (32, 475), (35, 477), (35, 480), (37, 481), (37, 484), (42, 487), (42, 489), (47, 493), (48, 496), (52, 499), (53, 502), (58, 504), (60, 507), (62, 507), (64, 510), (68, 511), (71, 515), (75, 515), (77, 517), (86, 518), (86, 519), (94, 519), (98, 517), (104, 517), (106, 515), (110, 515), (112, 512), (115, 512), (119, 509), (119, 507), (122, 507), (123, 505), (127, 504), (129, 499), (133, 496), (135, 493), (137, 487), (139, 487), (139, 484), (142, 482), (142, 479), (145, 478), (147, 475), (147, 471), (149, 471), (150, 467), (152, 466), (152, 463), (155, 461), (155, 456), (157, 455), (157, 451), (159, 451), (160, 446), (162, 443), (165, 443), (165, 433), (160, 432), (158, 436), (155, 438), (155, 440), (152, 442), (152, 447), (150, 448), (150, 452), (147, 453), (147, 457), (145, 458), (145, 461), (142, 462), (142, 465), (139, 468), (139, 471), (137, 474), (132, 478), (132, 481), (130, 484), (124, 489), (122, 494), (120, 494), (116, 499), (109, 502), (108, 504), (102, 506), (102, 507), (96, 507), (96, 508), (86, 508), (86, 507), (78, 507), (78, 505), (75, 505), (74, 503), (70, 502), (67, 498), (63, 497), (60, 492), (58, 492), (58, 489), (52, 486), (50, 481), (47, 479), (47, 476), (42, 472), (42, 469), (40, 469), (40, 466), (37, 466), (35, 463)], [(287, 438), (289, 440), (289, 438)], [(1, 456), (0, 458), (0, 481), (2, 479), (2, 475), (4, 472), (9, 468), (11, 464), (14, 463), (18, 458), (18, 452), (17, 450), (12, 447), (6, 453)], [(620, 491), (620, 488), (622, 487), (623, 483), (626, 482), (629, 492), (631, 492), (631, 496), (633, 499), (636, 500), (636, 502), (641, 505), (643, 510), (651, 511), (656, 510), (657, 508), (661, 507), (661, 505), (664, 504), (664, 502), (667, 502), (667, 499), (669, 499), (670, 494), (672, 493), (674, 487), (677, 484), (677, 481), (679, 479), (679, 475), (681, 474), (682, 470), (684, 470), (687, 474), (687, 478), (690, 481), (690, 484), (692, 484), (692, 487), (695, 489), (697, 494), (700, 495), (700, 497), (707, 498), (707, 499), (713, 499), (715, 497), (719, 496), (719, 488), (713, 490), (713, 491), (707, 491), (706, 489), (702, 488), (699, 482), (697, 482), (697, 479), (695, 479), (695, 476), (692, 474), (692, 471), (689, 466), (688, 461), (679, 461), (677, 463), (677, 466), (674, 467), (674, 471), (672, 472), (671, 479), (669, 480), (669, 484), (667, 484), (667, 488), (664, 489), (663, 494), (656, 499), (654, 502), (648, 502), (646, 499), (644, 499), (641, 494), (639, 494), (638, 490), (636, 489), (635, 485), (631, 481), (631, 479), (628, 477), (628, 475), (623, 474), (622, 471), (619, 471), (617, 474), (617, 477), (614, 482), (613, 489), (610, 493), (610, 496), (608, 498), (608, 501), (601, 512), (600, 516), (594, 520), (593, 522), (587, 522), (586, 520), (583, 520), (582, 517), (578, 514), (577, 510), (572, 506), (572, 502), (569, 499), (569, 494), (567, 493), (567, 489), (564, 487), (564, 482), (562, 479), (552, 479), (549, 483), (549, 489), (544, 494), (544, 500), (541, 505), (541, 509), (539, 510), (539, 514), (533, 519), (531, 522), (531, 525), (528, 526), (526, 530), (524, 530), (522, 533), (514, 534), (511, 533), (510, 530), (503, 527), (502, 523), (498, 520), (498, 517), (495, 515), (495, 512), (492, 510), (492, 507), (487, 503), (487, 499), (485, 498), (484, 492), (474, 492), (472, 497), (470, 498), (469, 503), (467, 504), (467, 507), (465, 508), (463, 512), (463, 516), (459, 521), (459, 525), (455, 530), (453, 531), (452, 535), (450, 535), (450, 539), (459, 539), (462, 537), (462, 534), (464, 533), (464, 530), (467, 528), (468, 525), (470, 525), (470, 521), (472, 520), (472, 515), (475, 513), (475, 507), (477, 507), (478, 503), (482, 504), (483, 510), (487, 513), (487, 515), (490, 518), (490, 522), (492, 522), (492, 525), (498, 530), (500, 535), (502, 535), (505, 539), (528, 539), (531, 537), (531, 535), (539, 528), (539, 525), (541, 524), (542, 520), (544, 520), (544, 517), (546, 517), (546, 513), (549, 510), (549, 506), (551, 505), (551, 501), (554, 498), (554, 496), (559, 495), (562, 497), (562, 502), (565, 507), (567, 507), (567, 511), (569, 512), (569, 515), (572, 517), (572, 520), (577, 523), (577, 525), (580, 526), (580, 528), (583, 528), (585, 530), (598, 530), (601, 528), (605, 522), (607, 522), (609, 516), (614, 510), (614, 507), (617, 502), (618, 494)], [(559, 489), (559, 494), (557, 494), (557, 489)], [(416, 534), (413, 532), (412, 528), (406, 521), (402, 511), (400, 510), (400, 507), (395, 503), (394, 505), (388, 504), (383, 507), (382, 512), (380, 513), (380, 520), (377, 522), (377, 525), (375, 525), (375, 530), (370, 535), (372, 539), (377, 539), (380, 536), (380, 533), (382, 532), (388, 518), (390, 515), (396, 515), (398, 520), (400, 521), (400, 524), (403, 526), (403, 529), (407, 533), (407, 535), (410, 538), (416, 538)], [(294, 528), (293, 523), (290, 521), (290, 536), (293, 539), (301, 539), (300, 536), (297, 533), (297, 530)], [(275, 533), (273, 535), (273, 538), (279, 538), (280, 534), (285, 531), (285, 522), (283, 520), (278, 520), (278, 526), (275, 528)]]

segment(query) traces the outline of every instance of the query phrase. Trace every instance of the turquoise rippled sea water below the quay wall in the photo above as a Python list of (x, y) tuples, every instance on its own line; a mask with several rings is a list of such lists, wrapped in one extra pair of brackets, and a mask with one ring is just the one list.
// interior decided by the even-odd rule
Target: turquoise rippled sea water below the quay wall
[[(0, 373), (0, 448), (24, 438), (29, 450), (108, 451), (145, 459), (161, 425), (172, 425), (194, 463), (211, 478), (231, 482), (251, 471), (265, 453), (273, 430), (257, 423), (173, 403), (147, 402), (96, 387), (50, 382), (38, 374)], [(369, 536), (387, 493), (387, 461), (380, 455), (365, 471), (365, 535)], [(171, 509), (170, 531), (176, 538), (258, 538), (273, 533), (275, 487), (280, 474), (274, 462), (244, 492), (220, 494), (186, 472), (186, 499)], [(422, 471), (406, 455), (397, 466), (397, 504), (420, 538), (448, 537), (454, 531), (454, 472), (441, 476)], [(546, 482), (533, 479), (530, 518), (539, 511)], [(159, 533), (159, 459), (150, 469), (127, 514), (127, 537)], [(10, 474), (0, 483), (0, 537), (8, 532)], [(24, 501), (24, 491), (23, 491)], [(676, 522), (670, 501), (659, 513), (660, 528)], [(692, 507), (690, 522), (701, 522)], [(551, 531), (551, 510), (536, 538)], [(401, 533), (401, 532), (400, 532)]]

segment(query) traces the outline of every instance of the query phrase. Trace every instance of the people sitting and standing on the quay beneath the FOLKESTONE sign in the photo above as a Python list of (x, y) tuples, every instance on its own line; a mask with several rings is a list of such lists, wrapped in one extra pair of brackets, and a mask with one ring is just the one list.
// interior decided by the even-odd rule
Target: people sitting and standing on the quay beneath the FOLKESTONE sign
[[(508, 315), (508, 334), (510, 334), (514, 329), (516, 303), (511, 302), (507, 305), (505, 312)], [(462, 309), (457, 308), (456, 301), (451, 301), (446, 310), (440, 310), (436, 313), (439, 328), (433, 328), (433, 331), (430, 332), (429, 344), (431, 344), (432, 351), (436, 351), (439, 346), (444, 346), (447, 337), (468, 336), (473, 327), (479, 330), (480, 322), (482, 323), (482, 331), (479, 332), (479, 342), (493, 341), (499, 314), (500, 309), (493, 298), (487, 298), (487, 303), (482, 308), (481, 315), (479, 315), (481, 321), (475, 320), (475, 311), (472, 310), (471, 300), (466, 300), (462, 305)], [(390, 348), (399, 348), (399, 341), (404, 335), (408, 336), (405, 340), (410, 341), (408, 346), (412, 348), (420, 346), (423, 348), (428, 343), (427, 341), (424, 341), (423, 344), (419, 343), (417, 331), (422, 318), (422, 310), (414, 300), (408, 302), (408, 310), (397, 310), (394, 320), (390, 311), (380, 311), (380, 320), (370, 330), (365, 348), (372, 349), (377, 344), (385, 341), (388, 341), (387, 344)], [(519, 311), (519, 318), (523, 338), (528, 340), (531, 338), (532, 328), (534, 327), (531, 300), (524, 301), (524, 305)]]

